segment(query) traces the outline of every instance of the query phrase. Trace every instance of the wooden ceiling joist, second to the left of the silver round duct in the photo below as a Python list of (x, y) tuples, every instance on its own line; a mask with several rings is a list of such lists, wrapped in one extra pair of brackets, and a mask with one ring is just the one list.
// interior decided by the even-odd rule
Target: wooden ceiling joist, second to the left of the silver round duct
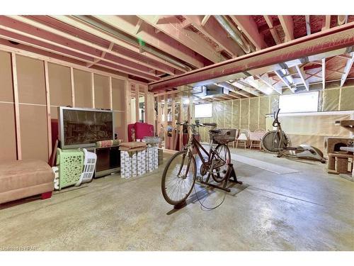
[[(210, 43), (207, 43), (207, 40), (202, 38), (198, 33), (193, 31), (187, 31), (181, 27), (180, 21), (174, 16), (169, 16), (167, 18), (160, 18), (158, 23), (154, 23), (155, 16), (152, 15), (143, 15), (138, 16), (142, 18), (145, 22), (149, 23), (151, 26), (158, 28), (160, 31), (169, 35), (170, 38), (177, 40), (182, 45), (190, 48), (203, 57), (207, 58), (212, 62), (221, 62), (224, 60), (224, 57), (217, 52)], [(171, 52), (171, 51), (170, 51)]]

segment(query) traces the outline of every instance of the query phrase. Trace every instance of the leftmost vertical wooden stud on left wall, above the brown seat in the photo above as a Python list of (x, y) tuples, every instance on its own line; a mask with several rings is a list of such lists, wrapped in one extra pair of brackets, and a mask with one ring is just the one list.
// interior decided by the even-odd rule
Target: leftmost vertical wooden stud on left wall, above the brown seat
[(22, 160), (21, 129), (20, 129), (20, 105), (18, 103), (17, 64), (16, 64), (16, 54), (14, 52), (11, 52), (11, 65), (12, 65), (12, 80), (13, 80), (13, 100), (15, 101), (17, 160)]

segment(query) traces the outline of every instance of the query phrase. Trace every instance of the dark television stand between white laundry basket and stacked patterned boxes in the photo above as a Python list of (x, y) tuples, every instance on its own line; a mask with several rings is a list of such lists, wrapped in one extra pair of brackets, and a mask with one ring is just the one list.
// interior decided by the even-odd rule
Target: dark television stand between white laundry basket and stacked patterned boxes
[(120, 171), (119, 145), (93, 148), (93, 152), (97, 155), (95, 177), (103, 177)]

